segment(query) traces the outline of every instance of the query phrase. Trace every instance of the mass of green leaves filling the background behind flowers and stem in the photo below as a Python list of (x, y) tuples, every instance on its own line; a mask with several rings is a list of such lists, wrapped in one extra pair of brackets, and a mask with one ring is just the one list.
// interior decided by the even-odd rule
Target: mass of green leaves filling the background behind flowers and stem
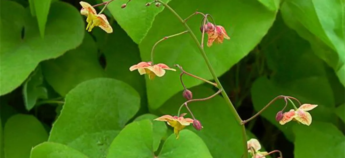
[[(85, 31), (79, 1), (0, 0), (1, 158), (242, 156), (240, 126), (221, 96), (190, 104), (204, 129), (187, 127), (179, 140), (170, 126), (152, 121), (176, 115), (185, 101), (179, 72), (150, 81), (128, 68), (149, 61), (156, 41), (184, 28), (164, 7), (147, 2), (131, 1), (125, 9), (126, 0), (110, 3), (105, 14), (114, 32), (107, 34)], [(275, 115), (285, 103), (279, 100), (246, 125), (248, 137), (288, 158), (345, 157), (344, 0), (169, 5), (182, 17), (210, 13), (227, 30), (231, 40), (205, 50), (242, 119), (278, 95), (319, 105), (310, 127), (281, 126)], [(200, 19), (188, 20), (198, 37)], [(187, 34), (155, 52), (156, 62), (212, 79)], [(184, 81), (194, 98), (215, 92), (194, 78)]]

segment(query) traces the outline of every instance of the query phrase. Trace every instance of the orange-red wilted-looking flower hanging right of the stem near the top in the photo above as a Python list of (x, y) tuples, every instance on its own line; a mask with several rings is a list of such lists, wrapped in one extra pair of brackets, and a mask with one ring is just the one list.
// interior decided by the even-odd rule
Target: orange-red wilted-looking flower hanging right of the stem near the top
[(208, 35), (207, 47), (211, 47), (213, 42), (223, 43), (224, 38), (230, 39), (223, 26), (215, 26), (213, 23), (207, 22), (204, 29)]

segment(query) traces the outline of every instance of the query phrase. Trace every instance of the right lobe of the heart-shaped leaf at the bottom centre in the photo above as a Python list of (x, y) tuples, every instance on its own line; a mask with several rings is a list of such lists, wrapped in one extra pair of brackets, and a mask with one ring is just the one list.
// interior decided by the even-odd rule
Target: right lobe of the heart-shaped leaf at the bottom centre
[(159, 158), (177, 157), (212, 158), (203, 139), (188, 129), (180, 132), (180, 138), (178, 140), (176, 140), (174, 134), (170, 135), (159, 153)]

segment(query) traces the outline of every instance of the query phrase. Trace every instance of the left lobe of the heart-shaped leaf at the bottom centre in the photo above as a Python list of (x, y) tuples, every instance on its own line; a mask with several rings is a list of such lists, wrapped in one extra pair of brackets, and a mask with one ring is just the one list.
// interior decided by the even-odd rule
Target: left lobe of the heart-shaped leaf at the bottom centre
[(153, 157), (152, 122), (128, 124), (109, 146), (107, 158)]

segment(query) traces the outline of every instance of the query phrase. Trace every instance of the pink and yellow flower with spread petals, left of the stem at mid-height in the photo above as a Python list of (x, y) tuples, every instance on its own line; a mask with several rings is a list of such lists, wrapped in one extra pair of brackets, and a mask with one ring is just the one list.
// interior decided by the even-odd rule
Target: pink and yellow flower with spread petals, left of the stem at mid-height
[(129, 68), (130, 71), (138, 70), (140, 75), (147, 74), (150, 80), (153, 80), (156, 76), (162, 77), (165, 75), (165, 70), (176, 71), (169, 68), (163, 63), (152, 65), (152, 62), (139, 62), (137, 65), (133, 65)]

